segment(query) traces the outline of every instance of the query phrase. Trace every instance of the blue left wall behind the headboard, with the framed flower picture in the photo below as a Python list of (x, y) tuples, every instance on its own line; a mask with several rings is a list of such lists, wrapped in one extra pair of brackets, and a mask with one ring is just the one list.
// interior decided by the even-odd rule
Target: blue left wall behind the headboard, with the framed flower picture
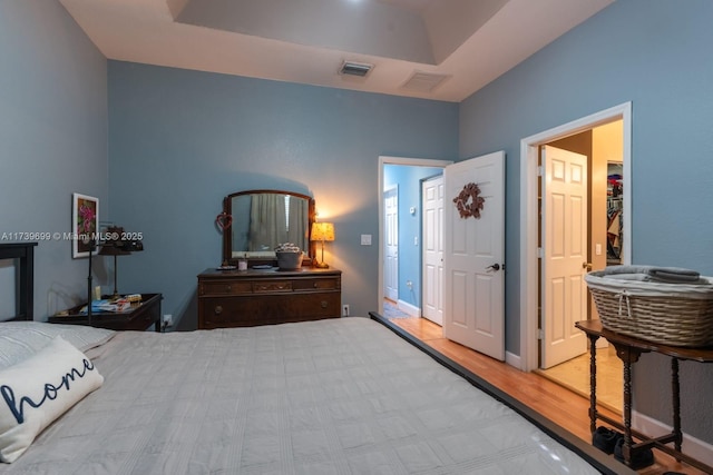
[[(100, 218), (108, 205), (106, 67), (59, 2), (0, 2), (0, 237), (50, 234), (36, 248), (37, 319), (86, 299), (87, 259), (51, 235), (71, 230), (72, 192), (99, 198)], [(11, 298), (0, 290), (0, 306)]]

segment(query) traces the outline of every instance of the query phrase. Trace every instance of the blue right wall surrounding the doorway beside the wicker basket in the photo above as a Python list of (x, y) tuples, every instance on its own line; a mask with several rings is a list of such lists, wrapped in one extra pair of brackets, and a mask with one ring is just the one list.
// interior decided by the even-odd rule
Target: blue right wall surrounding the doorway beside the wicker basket
[[(460, 157), (507, 154), (508, 350), (519, 353), (525, 137), (632, 101), (633, 263), (713, 275), (711, 21), (710, 0), (618, 0), (461, 103)], [(643, 357), (634, 370), (636, 409), (671, 424), (667, 364)], [(682, 375), (684, 429), (712, 443), (713, 367)]]

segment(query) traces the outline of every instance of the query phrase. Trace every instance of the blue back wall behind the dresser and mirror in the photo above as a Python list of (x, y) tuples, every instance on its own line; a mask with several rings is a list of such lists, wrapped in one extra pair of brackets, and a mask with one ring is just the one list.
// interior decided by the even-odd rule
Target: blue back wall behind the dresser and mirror
[(109, 123), (110, 216), (146, 249), (121, 258), (119, 290), (160, 291), (164, 311), (194, 325), (196, 275), (221, 264), (225, 195), (314, 196), (335, 225), (324, 259), (344, 273), (342, 301), (365, 316), (379, 304), (379, 156), (453, 159), (458, 148), (456, 103), (119, 61)]

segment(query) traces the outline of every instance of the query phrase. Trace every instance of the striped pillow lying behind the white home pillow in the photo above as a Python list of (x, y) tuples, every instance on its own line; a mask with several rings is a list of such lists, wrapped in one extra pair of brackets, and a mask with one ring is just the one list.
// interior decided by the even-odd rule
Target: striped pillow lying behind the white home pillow
[(61, 336), (78, 350), (87, 352), (108, 342), (116, 331), (84, 325), (56, 325), (45, 321), (0, 323), (0, 369), (20, 363)]

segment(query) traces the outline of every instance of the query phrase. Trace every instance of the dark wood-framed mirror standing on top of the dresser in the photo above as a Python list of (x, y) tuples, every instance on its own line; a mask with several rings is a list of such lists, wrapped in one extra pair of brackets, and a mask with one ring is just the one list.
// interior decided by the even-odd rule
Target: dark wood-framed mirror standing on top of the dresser
[(275, 247), (293, 243), (305, 254), (303, 265), (311, 265), (314, 243), (310, 229), (314, 221), (314, 199), (283, 190), (237, 191), (223, 199), (223, 211), (232, 224), (223, 231), (223, 261), (236, 265), (273, 265)]

